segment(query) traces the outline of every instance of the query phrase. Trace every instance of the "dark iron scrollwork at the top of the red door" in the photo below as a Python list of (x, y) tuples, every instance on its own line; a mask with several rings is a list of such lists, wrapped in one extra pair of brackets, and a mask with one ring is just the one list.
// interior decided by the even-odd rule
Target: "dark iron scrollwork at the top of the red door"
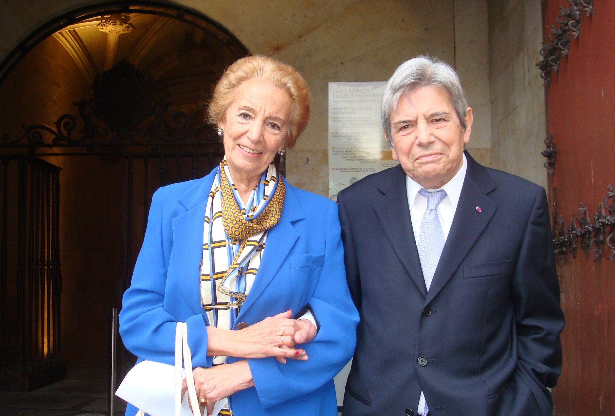
[(576, 39), (581, 33), (581, 17), (593, 14), (593, 0), (568, 0), (568, 9), (560, 6), (555, 21), (559, 27), (551, 26), (549, 44), (543, 43), (540, 54), (542, 60), (536, 64), (541, 70), (544, 85), (549, 84), (550, 74), (557, 72), (560, 59), (568, 55), (570, 39)]

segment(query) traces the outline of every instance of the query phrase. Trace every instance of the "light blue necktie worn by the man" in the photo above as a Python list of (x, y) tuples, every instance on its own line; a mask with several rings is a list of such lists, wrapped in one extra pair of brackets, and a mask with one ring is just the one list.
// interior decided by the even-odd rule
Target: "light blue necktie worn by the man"
[[(419, 190), (419, 194), (427, 198), (427, 210), (421, 219), (421, 231), (419, 232), (419, 241), (416, 243), (416, 248), (421, 259), (421, 268), (423, 269), (423, 277), (425, 278), (425, 286), (429, 291), (431, 281), (434, 278), (435, 268), (438, 267), (440, 254), (444, 248), (444, 232), (440, 218), (438, 218), (438, 204), (446, 197), (446, 191), (441, 189), (435, 192), (427, 192), (425, 189)], [(425, 395), (421, 391), (419, 399), (418, 414), (425, 416), (429, 412)]]

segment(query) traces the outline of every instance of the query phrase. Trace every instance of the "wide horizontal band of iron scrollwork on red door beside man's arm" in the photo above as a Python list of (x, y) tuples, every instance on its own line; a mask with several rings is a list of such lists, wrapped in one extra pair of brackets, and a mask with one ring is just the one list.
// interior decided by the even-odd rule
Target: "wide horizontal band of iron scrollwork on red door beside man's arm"
[[(605, 245), (609, 249), (608, 259), (615, 258), (615, 189), (613, 186), (606, 187), (608, 193), (603, 202), (598, 204), (598, 209), (590, 221), (590, 214), (584, 203), (579, 202), (577, 214), (573, 214), (571, 223), (566, 227), (563, 216), (557, 214), (557, 190), (554, 189), (554, 227), (552, 230), (555, 255), (560, 259), (560, 265), (566, 262), (568, 253), (576, 258), (577, 249), (589, 257), (593, 252), (593, 261), (597, 262), (603, 256)], [(606, 211), (606, 213), (605, 213)]]

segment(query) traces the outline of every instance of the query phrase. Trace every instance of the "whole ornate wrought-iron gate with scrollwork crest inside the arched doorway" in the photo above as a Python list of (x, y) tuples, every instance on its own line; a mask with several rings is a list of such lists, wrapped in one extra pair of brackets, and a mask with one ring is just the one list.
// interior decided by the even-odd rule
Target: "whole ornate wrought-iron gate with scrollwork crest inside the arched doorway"
[[(117, 96), (118, 85), (154, 85), (122, 61), (92, 86), (95, 99), (75, 103), (79, 116), (24, 126), (17, 138), (0, 138), (3, 160), (0, 281), (0, 388), (32, 390), (65, 375), (60, 347), (60, 168), (39, 158), (105, 158), (123, 165), (122, 275), (109, 276), (114, 304), (130, 285), (145, 234), (149, 201), (159, 186), (204, 176), (223, 157), (216, 131), (199, 115), (169, 113), (169, 103), (145, 95), (149, 114), (119, 111), (106, 122), (101, 102), (133, 103)], [(124, 88), (125, 90), (126, 88)], [(117, 107), (116, 106), (116, 107)], [(120, 108), (121, 109), (121, 108)], [(121, 109), (122, 110), (122, 109)], [(117, 166), (117, 165), (116, 165)], [(135, 187), (135, 180), (139, 186)], [(119, 372), (134, 359), (119, 348)], [(122, 374), (119, 374), (121, 377)]]

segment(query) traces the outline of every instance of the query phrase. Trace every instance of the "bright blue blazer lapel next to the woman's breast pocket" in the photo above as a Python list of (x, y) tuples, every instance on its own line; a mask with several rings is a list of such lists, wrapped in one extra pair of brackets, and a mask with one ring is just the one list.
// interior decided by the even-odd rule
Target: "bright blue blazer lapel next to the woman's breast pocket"
[(258, 272), (256, 272), (252, 289), (250, 289), (250, 293), (248, 293), (245, 299), (237, 320), (240, 320), (250, 310), (267, 286), (269, 286), (269, 283), (276, 277), (278, 270), (280, 270), (280, 267), (282, 267), (282, 264), (287, 259), (293, 245), (295, 245), (295, 241), (299, 238), (299, 233), (293, 227), (292, 222), (305, 218), (305, 215), (296, 198), (293, 187), (288, 184), (286, 179), (284, 179), (284, 185), (286, 187), (286, 195), (284, 197), (284, 206), (282, 207), (282, 216), (276, 226), (272, 227), (268, 232), (263, 259), (258, 267)]

